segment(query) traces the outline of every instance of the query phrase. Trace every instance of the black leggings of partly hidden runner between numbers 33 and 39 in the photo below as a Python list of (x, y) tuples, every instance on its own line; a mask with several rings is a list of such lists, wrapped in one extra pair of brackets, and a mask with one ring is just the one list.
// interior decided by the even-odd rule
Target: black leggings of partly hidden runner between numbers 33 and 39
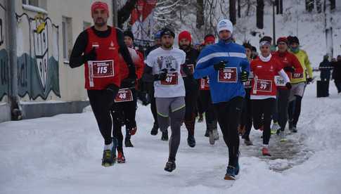
[(243, 101), (243, 111), (240, 119), (240, 127), (245, 127), (245, 134), (243, 134), (243, 138), (246, 140), (250, 140), (250, 131), (252, 128), (252, 108), (251, 108), (251, 100), (250, 100), (250, 91), (251, 89), (245, 89), (245, 98)]

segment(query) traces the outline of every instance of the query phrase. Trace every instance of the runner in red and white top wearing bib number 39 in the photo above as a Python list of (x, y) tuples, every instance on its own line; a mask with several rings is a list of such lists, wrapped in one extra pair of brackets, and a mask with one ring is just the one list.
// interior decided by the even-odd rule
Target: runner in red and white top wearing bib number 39
[(260, 52), (258, 58), (252, 60), (251, 71), (252, 91), (252, 122), (255, 129), (263, 128), (262, 155), (271, 156), (268, 145), (271, 136), (270, 125), (273, 108), (276, 104), (276, 74), (284, 79), (284, 85), (290, 89), (290, 79), (285, 74), (281, 63), (271, 56), (271, 42), (261, 39), (259, 42)]

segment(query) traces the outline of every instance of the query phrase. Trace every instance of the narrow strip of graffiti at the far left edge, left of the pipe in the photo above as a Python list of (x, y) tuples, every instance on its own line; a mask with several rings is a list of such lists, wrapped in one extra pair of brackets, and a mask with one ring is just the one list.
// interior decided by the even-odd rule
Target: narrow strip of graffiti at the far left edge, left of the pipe
[(2, 2), (0, 1), (0, 101), (8, 94), (9, 89), (8, 53), (5, 41), (6, 8)]

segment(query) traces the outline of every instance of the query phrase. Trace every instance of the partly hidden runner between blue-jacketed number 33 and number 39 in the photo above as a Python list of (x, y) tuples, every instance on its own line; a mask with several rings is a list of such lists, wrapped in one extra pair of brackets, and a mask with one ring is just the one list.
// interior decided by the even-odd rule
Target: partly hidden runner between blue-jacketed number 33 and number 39
[[(248, 42), (243, 44), (245, 47), (246, 58), (249, 62), (252, 60), (252, 45)], [(252, 79), (253, 75), (250, 73), (249, 79), (247, 82), (244, 82), (244, 89), (245, 89), (245, 98), (243, 102), (243, 111), (241, 114), (240, 119), (240, 126), (239, 131), (242, 134), (242, 138), (244, 139), (245, 145), (253, 145), (252, 141), (250, 140), (250, 131), (252, 128), (252, 109), (251, 109), (251, 100), (250, 100), (250, 91), (252, 88)]]

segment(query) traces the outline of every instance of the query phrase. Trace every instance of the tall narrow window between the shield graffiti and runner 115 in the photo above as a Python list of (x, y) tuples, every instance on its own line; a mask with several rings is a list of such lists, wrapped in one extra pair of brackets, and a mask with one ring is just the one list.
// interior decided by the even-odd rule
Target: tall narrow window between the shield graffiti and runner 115
[(71, 18), (63, 17), (62, 33), (63, 33), (63, 58), (68, 63), (72, 49), (72, 25)]

